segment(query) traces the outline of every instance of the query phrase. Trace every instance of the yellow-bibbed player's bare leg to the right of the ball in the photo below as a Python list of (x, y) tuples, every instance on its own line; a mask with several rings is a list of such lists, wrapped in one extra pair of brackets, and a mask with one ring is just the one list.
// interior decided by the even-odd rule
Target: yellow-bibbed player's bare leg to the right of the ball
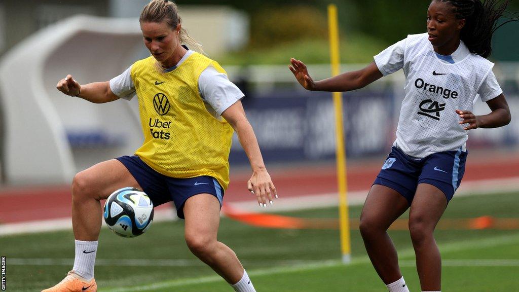
[(216, 240), (220, 227), (220, 203), (211, 194), (198, 194), (184, 205), (185, 238), (192, 253), (208, 264), (229, 284), (243, 276), (243, 266), (236, 254)]

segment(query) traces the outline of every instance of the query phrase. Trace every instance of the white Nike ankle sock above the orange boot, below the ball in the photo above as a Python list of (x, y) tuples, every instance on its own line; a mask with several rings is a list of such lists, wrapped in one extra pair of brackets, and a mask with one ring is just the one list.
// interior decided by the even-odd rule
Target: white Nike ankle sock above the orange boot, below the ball
[(87, 281), (94, 277), (95, 254), (98, 241), (76, 240), (76, 257), (74, 258), (74, 272)]

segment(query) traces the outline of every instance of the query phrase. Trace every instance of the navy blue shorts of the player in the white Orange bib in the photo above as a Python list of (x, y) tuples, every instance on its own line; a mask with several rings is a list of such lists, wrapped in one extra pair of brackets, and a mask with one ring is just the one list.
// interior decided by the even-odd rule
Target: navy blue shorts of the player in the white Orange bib
[(460, 148), (417, 159), (393, 147), (373, 184), (385, 185), (399, 192), (411, 205), (418, 184), (428, 183), (440, 189), (449, 202), (465, 173), (467, 154)]

